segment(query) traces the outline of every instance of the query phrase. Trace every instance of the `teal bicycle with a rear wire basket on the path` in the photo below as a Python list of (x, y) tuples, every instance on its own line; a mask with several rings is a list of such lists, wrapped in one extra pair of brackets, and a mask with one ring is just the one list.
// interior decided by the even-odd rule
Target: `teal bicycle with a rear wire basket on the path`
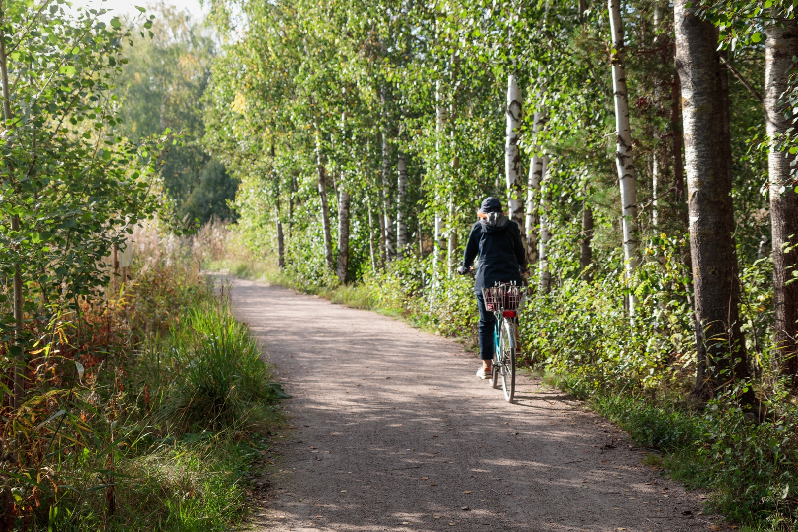
[(518, 314), (523, 309), (526, 286), (515, 282), (496, 283), (482, 289), (485, 309), (496, 316), (493, 329), (493, 367), (490, 383), (499, 388), (501, 375), (504, 400), (512, 403), (516, 394), (516, 351), (518, 345)]

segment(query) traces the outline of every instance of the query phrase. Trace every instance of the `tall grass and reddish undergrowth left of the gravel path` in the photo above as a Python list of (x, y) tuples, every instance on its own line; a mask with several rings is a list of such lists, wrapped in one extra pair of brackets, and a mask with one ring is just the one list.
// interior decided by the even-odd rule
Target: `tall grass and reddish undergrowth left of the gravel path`
[(286, 394), (186, 242), (136, 240), (127, 283), (41, 327), (25, 403), (2, 410), (0, 531), (204, 532), (246, 514)]

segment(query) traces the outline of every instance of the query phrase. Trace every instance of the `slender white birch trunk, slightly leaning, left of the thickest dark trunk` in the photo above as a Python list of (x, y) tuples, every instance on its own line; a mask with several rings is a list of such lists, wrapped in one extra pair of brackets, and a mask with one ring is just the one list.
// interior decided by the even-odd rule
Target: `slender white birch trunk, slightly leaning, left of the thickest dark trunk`
[[(638, 266), (638, 198), (634, 187), (632, 161), (632, 133), (629, 124), (629, 101), (626, 97), (626, 69), (624, 68), (623, 23), (621, 0), (609, 0), (610, 33), (612, 33), (612, 87), (615, 96), (615, 165), (618, 167), (618, 184), (621, 187), (623, 228), (623, 258), (626, 277), (630, 278)], [(629, 296), (629, 315), (634, 316), (634, 295)]]

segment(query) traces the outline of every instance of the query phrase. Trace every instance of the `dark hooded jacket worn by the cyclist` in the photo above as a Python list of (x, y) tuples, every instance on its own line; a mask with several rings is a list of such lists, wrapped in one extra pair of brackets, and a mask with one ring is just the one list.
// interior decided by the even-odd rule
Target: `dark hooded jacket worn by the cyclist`
[(521, 271), (527, 269), (527, 254), (517, 223), (500, 212), (488, 213), (487, 219), (476, 222), (468, 235), (463, 267), (468, 269), (477, 254), (480, 255), (474, 286), (477, 294), (482, 294), (483, 286), (493, 286), (496, 281), (521, 284)]

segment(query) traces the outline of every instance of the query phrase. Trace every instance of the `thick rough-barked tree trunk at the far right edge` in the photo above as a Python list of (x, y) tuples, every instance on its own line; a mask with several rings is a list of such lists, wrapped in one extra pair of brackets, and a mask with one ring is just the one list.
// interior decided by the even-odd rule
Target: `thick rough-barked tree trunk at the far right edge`
[(798, 56), (798, 25), (794, 18), (779, 25), (765, 27), (764, 44), (764, 113), (768, 137), (771, 139), (768, 156), (770, 187), (770, 222), (773, 250), (773, 310), (776, 349), (782, 360), (781, 371), (792, 376), (793, 387), (798, 386), (798, 283), (792, 271), (798, 265), (798, 193), (791, 186), (790, 157), (777, 148), (777, 139), (792, 127), (792, 116), (784, 116), (788, 109), (780, 104), (781, 94), (789, 87), (789, 75), (795, 68), (793, 57)]

